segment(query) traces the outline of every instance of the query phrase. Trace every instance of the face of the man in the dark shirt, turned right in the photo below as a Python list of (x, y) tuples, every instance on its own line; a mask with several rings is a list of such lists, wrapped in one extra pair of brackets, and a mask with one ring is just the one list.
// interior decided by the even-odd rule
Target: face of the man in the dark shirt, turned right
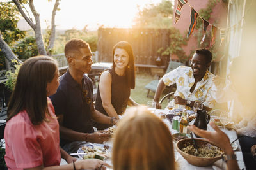
[(87, 48), (80, 48), (79, 53), (70, 59), (70, 66), (78, 74), (90, 73), (93, 61), (89, 46)]

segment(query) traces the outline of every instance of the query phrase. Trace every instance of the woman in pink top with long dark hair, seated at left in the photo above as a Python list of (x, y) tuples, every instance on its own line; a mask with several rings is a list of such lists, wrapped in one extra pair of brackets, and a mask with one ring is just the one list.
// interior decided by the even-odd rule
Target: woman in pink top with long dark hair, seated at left
[[(58, 120), (47, 97), (56, 92), (58, 77), (51, 57), (31, 57), (20, 67), (4, 130), (8, 169), (97, 169), (104, 164), (96, 159), (74, 162), (60, 148)], [(61, 157), (70, 164), (59, 166)]]

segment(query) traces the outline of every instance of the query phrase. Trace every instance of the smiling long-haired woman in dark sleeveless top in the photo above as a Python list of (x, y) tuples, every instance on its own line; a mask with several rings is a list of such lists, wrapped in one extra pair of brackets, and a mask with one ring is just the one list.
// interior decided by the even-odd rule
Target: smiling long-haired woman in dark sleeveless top
[[(130, 97), (135, 87), (135, 67), (132, 46), (120, 41), (113, 47), (113, 66), (106, 69), (100, 76), (95, 109), (109, 117), (118, 118), (127, 105), (137, 105)], [(109, 125), (94, 122), (97, 129), (106, 129)]]

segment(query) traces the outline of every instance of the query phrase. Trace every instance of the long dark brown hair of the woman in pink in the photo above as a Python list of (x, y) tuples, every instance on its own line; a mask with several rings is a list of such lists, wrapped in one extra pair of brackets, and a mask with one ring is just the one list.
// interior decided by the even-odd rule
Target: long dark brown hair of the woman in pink
[(47, 121), (47, 83), (58, 71), (56, 60), (46, 56), (31, 57), (20, 67), (7, 110), (7, 121), (26, 110), (33, 125)]

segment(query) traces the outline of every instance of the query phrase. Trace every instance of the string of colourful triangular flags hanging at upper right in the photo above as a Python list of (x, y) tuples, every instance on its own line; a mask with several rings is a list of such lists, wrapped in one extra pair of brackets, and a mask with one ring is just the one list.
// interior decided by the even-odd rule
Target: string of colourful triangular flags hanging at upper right
[[(181, 9), (182, 9), (182, 6), (184, 6), (184, 4), (188, 3), (188, 0), (177, 0), (177, 9), (175, 11), (175, 24), (177, 23), (177, 21), (179, 20), (180, 18), (180, 15), (181, 15)], [(189, 4), (189, 3), (188, 3)], [(228, 29), (231, 29), (231, 27), (227, 27), (225, 29), (223, 28), (220, 28), (220, 27), (216, 27), (215, 25), (212, 25), (211, 23), (209, 23), (207, 20), (204, 20), (204, 18), (202, 18), (196, 11), (195, 9), (189, 4), (189, 6), (191, 7), (191, 14), (190, 14), (190, 18), (191, 18), (191, 23), (189, 25), (189, 30), (188, 30), (188, 34), (187, 34), (187, 37), (189, 38), (189, 36), (192, 34), (192, 32), (194, 31), (195, 27), (196, 27), (196, 19), (197, 17), (199, 16), (203, 22), (204, 22), (204, 36), (202, 38), (202, 40), (200, 41), (200, 44), (204, 43), (204, 39), (205, 39), (205, 34), (206, 34), (206, 30), (207, 30), (207, 27), (209, 25), (211, 25), (211, 41), (210, 41), (210, 46), (214, 45), (215, 43), (215, 39), (216, 39), (216, 31), (217, 29), (220, 29), (220, 46), (221, 44), (223, 43), (224, 39), (225, 39), (225, 35), (226, 35), (226, 31)], [(238, 22), (239, 24), (240, 22)], [(232, 28), (236, 29), (236, 25), (232, 26)]]

